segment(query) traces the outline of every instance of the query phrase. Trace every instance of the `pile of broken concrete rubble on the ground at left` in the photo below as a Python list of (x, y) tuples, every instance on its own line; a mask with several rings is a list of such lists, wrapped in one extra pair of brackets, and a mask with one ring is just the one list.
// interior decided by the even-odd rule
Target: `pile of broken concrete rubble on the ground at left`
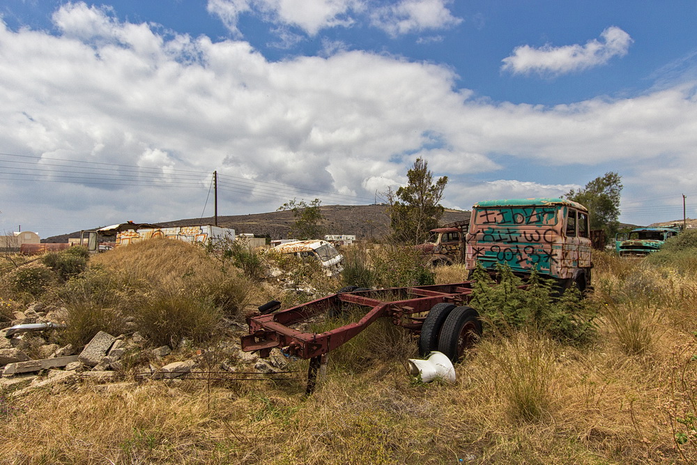
[[(15, 330), (9, 337), (10, 328), (0, 329), (0, 390), (19, 396), (38, 388), (76, 382), (124, 384), (125, 368), (132, 370), (130, 376), (135, 375), (136, 380), (172, 382), (202, 370), (244, 372), (254, 369), (273, 374), (286, 369), (287, 359), (277, 353), (265, 360), (256, 353), (242, 352), (236, 337), (220, 343), (215, 351), (192, 351), (189, 340), (175, 344), (176, 350), (170, 346), (152, 348), (148, 339), (137, 331), (117, 336), (100, 331), (84, 347), (61, 345), (57, 342), (60, 341), (59, 332), (65, 327), (66, 314), (65, 308), (42, 303), (34, 303), (13, 314), (11, 326), (49, 324), (41, 330)], [(186, 359), (177, 360), (181, 355)], [(135, 384), (133, 379), (125, 384)]]

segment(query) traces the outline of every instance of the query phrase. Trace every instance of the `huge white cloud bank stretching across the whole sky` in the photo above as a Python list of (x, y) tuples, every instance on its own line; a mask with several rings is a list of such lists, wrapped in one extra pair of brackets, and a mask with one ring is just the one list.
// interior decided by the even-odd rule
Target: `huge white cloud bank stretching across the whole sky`
[[(1, 151), (139, 166), (152, 177), (100, 186), (3, 179), (0, 220), (9, 224), (52, 219), (56, 233), (93, 222), (196, 218), (214, 169), (229, 176), (219, 199), (224, 215), (273, 211), (293, 197), (340, 203), (324, 192), (369, 202), (404, 183), (418, 155), (450, 177), (444, 204), (463, 208), (578, 187), (526, 183), (532, 172), (501, 174), (512, 158), (570, 171), (611, 164), (637, 180), (627, 190), (649, 176), (646, 185), (687, 189), (692, 178), (685, 167), (694, 166), (697, 146), (695, 82), (621, 100), (494, 104), (454, 89), (457, 76), (445, 66), (360, 51), (270, 62), (242, 41), (165, 37), (82, 3), (54, 18), (61, 36), (0, 23)], [(668, 159), (670, 169), (646, 168)], [(68, 181), (48, 162), (43, 169)], [(114, 168), (119, 173), (132, 174)], [(487, 173), (518, 180), (479, 181)]]

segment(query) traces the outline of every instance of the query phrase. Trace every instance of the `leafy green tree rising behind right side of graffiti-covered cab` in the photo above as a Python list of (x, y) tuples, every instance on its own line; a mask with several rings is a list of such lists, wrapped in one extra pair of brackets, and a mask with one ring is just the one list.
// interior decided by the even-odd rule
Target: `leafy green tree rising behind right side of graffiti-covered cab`
[(620, 226), (620, 181), (622, 176), (608, 171), (604, 176), (590, 181), (583, 189), (569, 190), (564, 197), (588, 208), (591, 229), (604, 229), (608, 237), (614, 237)]

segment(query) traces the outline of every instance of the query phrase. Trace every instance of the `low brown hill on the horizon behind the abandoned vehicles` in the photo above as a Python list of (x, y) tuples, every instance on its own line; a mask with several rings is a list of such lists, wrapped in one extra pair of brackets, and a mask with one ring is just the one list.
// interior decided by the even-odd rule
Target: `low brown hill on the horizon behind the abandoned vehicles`
[[(325, 205), (321, 206), (326, 218), (327, 234), (353, 234), (359, 239), (382, 238), (390, 234), (390, 216), (387, 205)], [(446, 208), (441, 224), (468, 220), (469, 211)], [(147, 219), (145, 219), (147, 220)], [(160, 227), (213, 224), (213, 217), (188, 218), (155, 223)], [(218, 215), (218, 226), (232, 228), (237, 234), (250, 233), (272, 239), (287, 238), (294, 222), (290, 211), (251, 213), (249, 215)], [(79, 231), (43, 239), (43, 243), (66, 243), (68, 238), (79, 238)]]

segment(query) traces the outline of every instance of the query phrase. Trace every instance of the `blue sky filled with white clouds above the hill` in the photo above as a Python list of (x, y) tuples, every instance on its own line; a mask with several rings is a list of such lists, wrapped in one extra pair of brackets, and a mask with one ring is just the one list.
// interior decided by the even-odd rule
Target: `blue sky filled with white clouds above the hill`
[[(0, 234), (622, 176), (697, 218), (697, 1), (0, 0)], [(685, 197), (683, 197), (685, 196)], [(254, 231), (245, 231), (254, 232)], [(351, 234), (351, 231), (332, 231)]]

